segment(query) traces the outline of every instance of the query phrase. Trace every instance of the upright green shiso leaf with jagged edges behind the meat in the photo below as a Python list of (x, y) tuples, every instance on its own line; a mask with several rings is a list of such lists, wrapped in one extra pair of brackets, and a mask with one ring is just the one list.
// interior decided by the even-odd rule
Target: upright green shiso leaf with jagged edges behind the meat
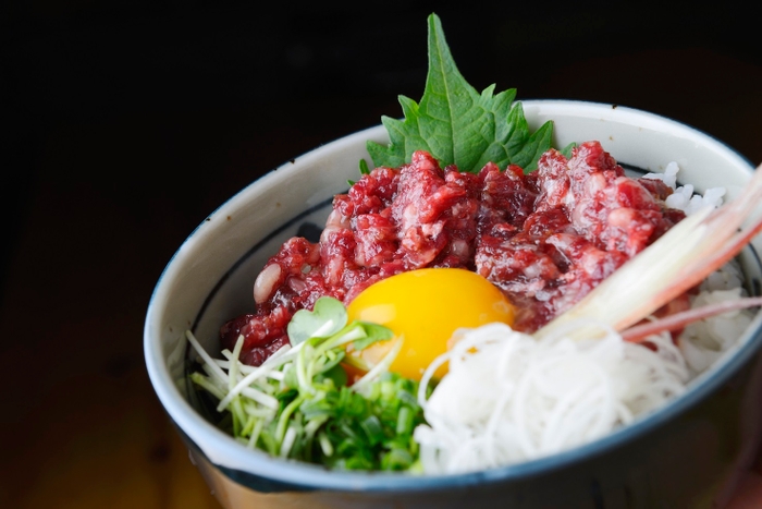
[[(410, 161), (415, 150), (427, 150), (443, 166), (478, 172), (492, 161), (500, 168), (519, 165), (537, 168), (551, 148), (552, 122), (531, 133), (516, 89), (494, 94), (494, 85), (481, 94), (466, 82), (450, 52), (439, 16), (429, 16), (429, 72), (420, 104), (400, 96), (405, 119), (382, 117), (390, 143), (368, 142), (373, 163), (396, 168)], [(367, 165), (361, 166), (367, 171)]]

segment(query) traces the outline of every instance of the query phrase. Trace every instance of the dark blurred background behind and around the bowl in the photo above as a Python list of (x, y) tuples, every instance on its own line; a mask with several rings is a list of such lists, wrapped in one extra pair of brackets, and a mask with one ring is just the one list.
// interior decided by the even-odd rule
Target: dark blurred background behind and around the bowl
[(479, 89), (654, 111), (762, 162), (751, 8), (612, 4), (0, 8), (0, 506), (216, 507), (145, 373), (153, 284), (234, 192), (418, 100), (431, 12)]

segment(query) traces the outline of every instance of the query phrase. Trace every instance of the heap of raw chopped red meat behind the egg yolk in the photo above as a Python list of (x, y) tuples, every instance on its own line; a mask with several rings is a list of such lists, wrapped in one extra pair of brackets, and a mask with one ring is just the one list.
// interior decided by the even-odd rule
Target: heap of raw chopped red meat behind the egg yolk
[(287, 241), (257, 277), (257, 311), (226, 323), (223, 348), (244, 335), (243, 362), (261, 364), (287, 342), (286, 325), (321, 295), (348, 304), (376, 281), (423, 267), (463, 267), (516, 304), (515, 328), (533, 331), (569, 308), (685, 216), (662, 181), (630, 179), (598, 142), (570, 159), (546, 152), (524, 174), (488, 163), (442, 170), (417, 152), (377, 168), (335, 196), (317, 244)]

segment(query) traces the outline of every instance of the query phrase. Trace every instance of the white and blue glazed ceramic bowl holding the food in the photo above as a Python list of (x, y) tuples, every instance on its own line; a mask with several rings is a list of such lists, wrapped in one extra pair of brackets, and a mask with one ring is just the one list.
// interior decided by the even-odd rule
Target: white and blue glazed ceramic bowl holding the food
[[(523, 105), (532, 129), (554, 121), (555, 146), (599, 140), (620, 163), (648, 171), (677, 161), (679, 179), (699, 191), (722, 185), (733, 197), (753, 171), (717, 140), (655, 114), (577, 101)], [(761, 316), (736, 348), (664, 409), (583, 447), (482, 472), (329, 472), (249, 450), (205, 419), (185, 379), (184, 331), (192, 329), (208, 351), (218, 351), (220, 325), (253, 310), (254, 279), (268, 257), (297, 232), (308, 238), (319, 233), (332, 196), (358, 178), (368, 140), (388, 141), (382, 126), (352, 134), (283, 165), (231, 197), (180, 246), (152, 294), (145, 324), (150, 379), (221, 504), (685, 508), (725, 500), (762, 433)], [(759, 288), (759, 263), (751, 251), (746, 270)]]

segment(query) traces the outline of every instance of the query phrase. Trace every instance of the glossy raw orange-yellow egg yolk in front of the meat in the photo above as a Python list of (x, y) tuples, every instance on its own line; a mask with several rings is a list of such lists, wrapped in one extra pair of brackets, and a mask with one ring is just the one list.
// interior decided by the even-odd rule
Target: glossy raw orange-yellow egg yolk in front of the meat
[[(447, 351), (453, 332), (493, 322), (513, 325), (514, 310), (503, 292), (476, 272), (425, 268), (402, 272), (366, 288), (347, 307), (354, 319), (381, 324), (394, 338), (348, 354), (369, 368), (381, 362), (395, 341), (403, 341), (390, 371), (420, 380), (423, 371)], [(441, 366), (435, 377), (447, 372)]]

